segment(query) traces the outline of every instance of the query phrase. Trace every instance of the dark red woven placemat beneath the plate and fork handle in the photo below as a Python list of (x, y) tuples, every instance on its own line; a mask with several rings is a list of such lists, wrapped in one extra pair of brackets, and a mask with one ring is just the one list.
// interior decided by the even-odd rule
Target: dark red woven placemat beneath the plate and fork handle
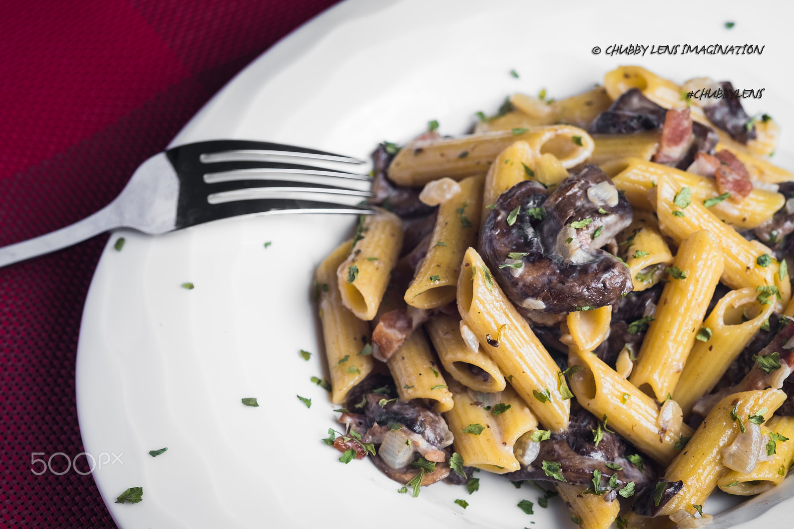
[[(6, 2), (0, 246), (110, 202), (237, 71), (336, 1)], [(0, 268), (2, 527), (115, 527), (85, 457), (66, 461), (83, 451), (75, 357), (105, 241)]]

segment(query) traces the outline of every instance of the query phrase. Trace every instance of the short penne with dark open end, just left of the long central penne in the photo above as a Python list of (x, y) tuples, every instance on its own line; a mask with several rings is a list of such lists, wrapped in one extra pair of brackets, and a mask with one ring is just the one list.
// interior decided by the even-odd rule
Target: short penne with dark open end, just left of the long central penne
[(461, 336), (461, 320), (437, 315), (425, 323), (438, 359), (449, 376), (477, 392), (500, 392), (505, 387), (499, 366), (491, 360), (483, 347), (472, 351)]

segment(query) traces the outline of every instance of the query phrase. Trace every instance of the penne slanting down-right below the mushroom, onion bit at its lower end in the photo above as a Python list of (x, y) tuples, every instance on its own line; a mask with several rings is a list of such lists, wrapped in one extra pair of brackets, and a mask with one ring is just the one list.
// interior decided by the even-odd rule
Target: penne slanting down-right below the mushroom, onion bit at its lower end
[(592, 353), (569, 353), (570, 365), (583, 367), (571, 376), (576, 400), (596, 417), (607, 415), (609, 426), (661, 465), (678, 452), (680, 437), (692, 435), (692, 428), (673, 417), (665, 423), (653, 398), (630, 384)]

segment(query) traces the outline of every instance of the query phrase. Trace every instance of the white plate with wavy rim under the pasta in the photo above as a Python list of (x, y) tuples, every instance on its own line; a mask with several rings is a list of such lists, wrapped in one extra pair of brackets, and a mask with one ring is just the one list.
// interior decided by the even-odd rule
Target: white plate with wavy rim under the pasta
[[(378, 141), (407, 141), (437, 119), (462, 133), (476, 110), (545, 87), (572, 95), (619, 64), (682, 81), (710, 75), (766, 88), (746, 101), (794, 124), (784, 37), (754, 2), (680, 2), (640, 9), (606, 2), (350, 0), (303, 26), (225, 87), (175, 138), (249, 138), (366, 157)], [(767, 6), (769, 7), (769, 6)], [(735, 21), (733, 29), (724, 22)], [(609, 44), (761, 44), (761, 56), (607, 56)], [(514, 79), (509, 71), (520, 75)], [(559, 500), (526, 515), (538, 493), (483, 473), (480, 491), (436, 485), (418, 499), (368, 461), (343, 465), (320, 439), (335, 427), (322, 376), (309, 285), (315, 266), (354, 219), (342, 215), (237, 218), (163, 237), (118, 232), (91, 284), (77, 359), (80, 427), (87, 452), (122, 454), (94, 478), (123, 529), (142, 527), (575, 527)], [(118, 236), (126, 243), (113, 249)], [(272, 241), (265, 249), (264, 242)], [(180, 288), (191, 281), (194, 290)], [(299, 349), (314, 354), (303, 361)], [(295, 397), (312, 399), (310, 409)], [(242, 397), (260, 407), (245, 407)], [(157, 458), (148, 450), (168, 446)], [(111, 458), (112, 459), (112, 458)], [(142, 486), (144, 501), (114, 504)], [(741, 525), (777, 504), (792, 483), (711, 527)], [(464, 498), (464, 511), (453, 500)], [(710, 500), (707, 512), (730, 504)], [(777, 504), (777, 507), (769, 508)], [(415, 521), (413, 522), (415, 523)], [(787, 523), (784, 523), (788, 527)], [(782, 527), (782, 526), (777, 526)]]

